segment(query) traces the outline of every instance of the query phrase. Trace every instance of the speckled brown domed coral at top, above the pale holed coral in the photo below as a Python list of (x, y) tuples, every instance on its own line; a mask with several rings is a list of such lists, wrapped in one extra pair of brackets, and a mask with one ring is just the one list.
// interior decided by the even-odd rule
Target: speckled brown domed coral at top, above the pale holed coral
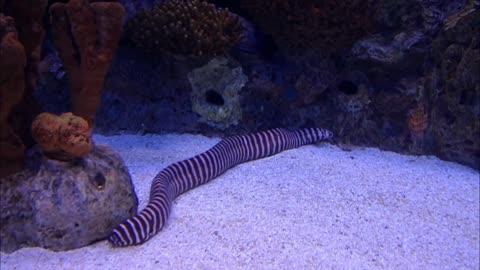
[(202, 0), (172, 0), (127, 23), (128, 36), (151, 53), (217, 55), (243, 36), (239, 17)]

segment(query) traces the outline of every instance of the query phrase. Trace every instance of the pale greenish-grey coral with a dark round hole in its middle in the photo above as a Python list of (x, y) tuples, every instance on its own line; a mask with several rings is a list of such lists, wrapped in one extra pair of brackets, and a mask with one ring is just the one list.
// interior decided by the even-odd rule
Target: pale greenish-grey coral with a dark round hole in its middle
[(192, 109), (210, 126), (226, 129), (242, 118), (239, 92), (247, 82), (242, 67), (224, 57), (188, 74)]

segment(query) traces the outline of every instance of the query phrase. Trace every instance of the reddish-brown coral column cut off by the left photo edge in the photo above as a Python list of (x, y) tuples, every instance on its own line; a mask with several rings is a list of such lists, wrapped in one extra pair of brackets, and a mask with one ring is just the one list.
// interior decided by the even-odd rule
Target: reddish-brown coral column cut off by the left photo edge
[(25, 146), (8, 119), (25, 90), (26, 56), (12, 17), (0, 13), (0, 177), (22, 166)]

